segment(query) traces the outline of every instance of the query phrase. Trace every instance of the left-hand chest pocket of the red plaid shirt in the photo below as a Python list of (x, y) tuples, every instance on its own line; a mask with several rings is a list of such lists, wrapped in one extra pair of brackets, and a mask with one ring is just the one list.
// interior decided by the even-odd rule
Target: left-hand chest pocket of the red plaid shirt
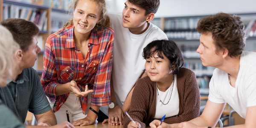
[(74, 68), (69, 66), (63, 66), (61, 65), (61, 79), (64, 81), (70, 82), (73, 80), (74, 77)]

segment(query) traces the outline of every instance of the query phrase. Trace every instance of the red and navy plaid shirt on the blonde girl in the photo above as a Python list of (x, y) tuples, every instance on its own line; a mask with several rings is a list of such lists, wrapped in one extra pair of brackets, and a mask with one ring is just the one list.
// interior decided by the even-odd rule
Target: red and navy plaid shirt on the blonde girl
[[(84, 59), (76, 48), (73, 38), (74, 26), (68, 26), (63, 32), (55, 32), (47, 39), (44, 50), (44, 69), (41, 83), (51, 102), (55, 102), (53, 111), (60, 109), (69, 93), (56, 96), (58, 84), (76, 81), (81, 91), (92, 89), (91, 105), (102, 106), (111, 103), (110, 78), (112, 70), (112, 51), (114, 32), (110, 27), (91, 31), (88, 52)], [(87, 96), (80, 97), (81, 107), (87, 108)]]

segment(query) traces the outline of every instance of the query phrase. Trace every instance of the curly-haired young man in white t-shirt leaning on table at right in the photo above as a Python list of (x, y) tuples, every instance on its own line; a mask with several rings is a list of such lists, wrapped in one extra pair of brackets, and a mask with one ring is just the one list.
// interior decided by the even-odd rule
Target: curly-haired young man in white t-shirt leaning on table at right
[(198, 21), (201, 33), (197, 52), (204, 66), (216, 67), (209, 83), (209, 100), (201, 116), (189, 122), (168, 125), (159, 120), (151, 128), (211, 128), (220, 119), (226, 102), (245, 119), (230, 128), (256, 128), (256, 53), (243, 52), (244, 24), (241, 18), (218, 13)]

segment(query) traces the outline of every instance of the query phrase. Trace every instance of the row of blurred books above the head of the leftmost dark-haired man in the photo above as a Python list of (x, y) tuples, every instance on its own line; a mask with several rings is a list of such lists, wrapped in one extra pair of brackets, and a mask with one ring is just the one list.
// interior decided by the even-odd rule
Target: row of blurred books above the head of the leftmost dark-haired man
[(3, 19), (21, 18), (34, 22), (41, 31), (47, 31), (47, 10), (24, 8), (14, 4), (3, 6)]

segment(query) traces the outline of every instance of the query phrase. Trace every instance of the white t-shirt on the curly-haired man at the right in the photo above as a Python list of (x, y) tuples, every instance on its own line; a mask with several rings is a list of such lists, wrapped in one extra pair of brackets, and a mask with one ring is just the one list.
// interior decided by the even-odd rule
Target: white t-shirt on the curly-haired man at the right
[(235, 87), (229, 84), (227, 73), (215, 69), (209, 83), (209, 100), (227, 102), (245, 119), (247, 107), (256, 106), (256, 52), (243, 52)]

